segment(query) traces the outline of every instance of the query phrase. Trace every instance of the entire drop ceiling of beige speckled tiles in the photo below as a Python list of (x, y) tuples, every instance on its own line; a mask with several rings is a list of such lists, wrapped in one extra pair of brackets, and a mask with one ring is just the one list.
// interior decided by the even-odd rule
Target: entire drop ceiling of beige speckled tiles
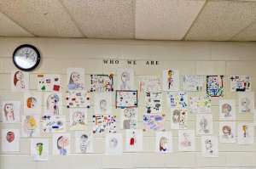
[(0, 37), (256, 41), (256, 0), (0, 0)]

